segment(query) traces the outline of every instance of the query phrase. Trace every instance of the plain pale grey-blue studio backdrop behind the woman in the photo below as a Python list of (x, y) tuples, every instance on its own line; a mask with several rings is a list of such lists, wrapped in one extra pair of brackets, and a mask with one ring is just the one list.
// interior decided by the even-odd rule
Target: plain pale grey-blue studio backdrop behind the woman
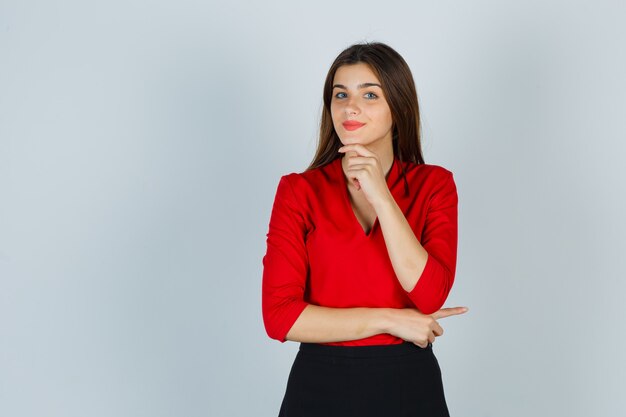
[[(3, 1), (0, 415), (275, 416), (261, 260), (335, 56), (410, 65), (459, 251), (451, 414), (626, 409), (626, 6)], [(419, 377), (417, 375), (416, 377)]]

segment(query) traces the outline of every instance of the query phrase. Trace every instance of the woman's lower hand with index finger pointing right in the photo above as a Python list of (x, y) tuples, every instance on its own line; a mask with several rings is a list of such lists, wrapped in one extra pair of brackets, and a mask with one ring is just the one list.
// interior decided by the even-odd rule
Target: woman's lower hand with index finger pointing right
[(437, 320), (463, 314), (468, 309), (467, 307), (442, 308), (432, 314), (422, 314), (415, 308), (389, 309), (389, 311), (391, 322), (388, 333), (421, 348), (426, 348), (428, 343), (435, 341), (435, 337), (443, 334), (443, 328)]

